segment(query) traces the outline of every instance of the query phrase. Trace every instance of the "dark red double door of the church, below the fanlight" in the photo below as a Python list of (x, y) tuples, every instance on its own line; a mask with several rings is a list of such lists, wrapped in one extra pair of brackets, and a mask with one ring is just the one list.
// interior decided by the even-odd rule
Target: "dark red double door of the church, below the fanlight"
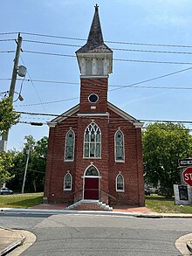
[(85, 177), (84, 199), (99, 199), (99, 178)]

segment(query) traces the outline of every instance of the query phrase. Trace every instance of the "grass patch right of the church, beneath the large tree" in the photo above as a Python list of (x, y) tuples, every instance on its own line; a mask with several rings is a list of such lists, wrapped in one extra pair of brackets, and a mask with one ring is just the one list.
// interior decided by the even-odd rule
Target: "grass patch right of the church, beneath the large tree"
[(192, 214), (192, 205), (175, 205), (175, 199), (153, 195), (146, 197), (146, 207), (155, 212), (167, 213), (190, 213)]

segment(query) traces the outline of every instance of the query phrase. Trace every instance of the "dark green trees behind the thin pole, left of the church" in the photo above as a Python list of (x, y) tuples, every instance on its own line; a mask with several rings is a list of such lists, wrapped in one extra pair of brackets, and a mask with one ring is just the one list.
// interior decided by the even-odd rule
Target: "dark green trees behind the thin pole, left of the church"
[(24, 143), (24, 149), (21, 152), (11, 151), (14, 158), (14, 168), (12, 169), (12, 172), (15, 173), (15, 178), (10, 181), (9, 187), (14, 191), (21, 191), (27, 158), (26, 153), (30, 148), (30, 158), (24, 191), (43, 191), (48, 138), (43, 137), (38, 142), (35, 142), (34, 138), (29, 135), (25, 136), (24, 139), (26, 142)]

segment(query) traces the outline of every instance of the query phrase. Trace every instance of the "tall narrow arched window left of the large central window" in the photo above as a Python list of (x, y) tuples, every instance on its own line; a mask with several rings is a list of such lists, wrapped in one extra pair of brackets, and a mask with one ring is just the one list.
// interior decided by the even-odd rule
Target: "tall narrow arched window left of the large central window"
[(75, 134), (72, 129), (66, 133), (65, 137), (65, 161), (74, 160), (74, 140)]

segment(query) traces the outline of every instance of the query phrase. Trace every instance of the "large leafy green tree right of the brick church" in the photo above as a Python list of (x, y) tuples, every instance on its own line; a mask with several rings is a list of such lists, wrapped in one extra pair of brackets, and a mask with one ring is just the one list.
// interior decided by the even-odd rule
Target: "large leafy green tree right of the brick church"
[(154, 123), (142, 134), (144, 171), (147, 183), (160, 184), (166, 197), (180, 183), (178, 159), (192, 156), (192, 137), (182, 124)]

